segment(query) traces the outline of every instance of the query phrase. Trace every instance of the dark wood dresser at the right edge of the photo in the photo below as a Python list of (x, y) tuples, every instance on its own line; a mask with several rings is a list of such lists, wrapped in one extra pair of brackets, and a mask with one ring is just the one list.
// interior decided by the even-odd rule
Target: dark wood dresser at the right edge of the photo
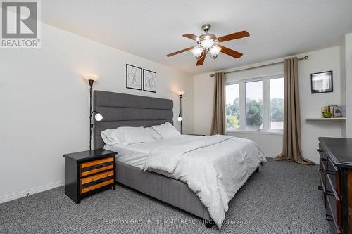
[(318, 139), (325, 219), (332, 233), (352, 234), (352, 138)]

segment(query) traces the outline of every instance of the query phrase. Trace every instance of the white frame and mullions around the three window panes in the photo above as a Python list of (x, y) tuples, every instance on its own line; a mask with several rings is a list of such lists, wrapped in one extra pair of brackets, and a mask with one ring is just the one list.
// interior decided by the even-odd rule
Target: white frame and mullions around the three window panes
[[(252, 77), (248, 79), (229, 80), (226, 85), (239, 84), (239, 128), (225, 129), (226, 132), (234, 133), (256, 133), (256, 134), (283, 134), (283, 129), (270, 129), (270, 79), (284, 77), (283, 73), (268, 74), (260, 77)], [(246, 83), (247, 82), (263, 82), (263, 129), (246, 129)], [(226, 89), (225, 89), (226, 91)]]

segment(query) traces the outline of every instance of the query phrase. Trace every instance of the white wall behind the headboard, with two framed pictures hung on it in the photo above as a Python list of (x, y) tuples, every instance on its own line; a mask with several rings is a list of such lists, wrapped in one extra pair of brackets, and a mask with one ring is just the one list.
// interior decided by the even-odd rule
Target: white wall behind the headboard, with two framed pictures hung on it
[[(126, 89), (126, 63), (155, 71), (157, 93)], [(62, 155), (88, 149), (89, 85), (82, 74), (99, 75), (94, 89), (173, 99), (177, 127), (175, 91), (186, 91), (184, 133), (193, 132), (191, 75), (48, 25), (42, 48), (1, 50), (0, 70), (0, 200), (63, 181)]]

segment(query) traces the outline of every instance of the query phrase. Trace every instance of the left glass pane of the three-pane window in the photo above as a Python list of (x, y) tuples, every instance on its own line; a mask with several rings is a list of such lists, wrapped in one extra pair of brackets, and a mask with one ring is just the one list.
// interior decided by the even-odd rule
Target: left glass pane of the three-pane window
[(239, 128), (239, 84), (226, 86), (226, 128)]

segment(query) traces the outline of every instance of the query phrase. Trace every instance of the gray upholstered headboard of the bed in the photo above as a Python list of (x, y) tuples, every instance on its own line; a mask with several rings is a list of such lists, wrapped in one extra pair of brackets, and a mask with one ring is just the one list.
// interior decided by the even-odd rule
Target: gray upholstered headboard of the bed
[(173, 102), (170, 99), (151, 98), (125, 93), (94, 91), (94, 109), (103, 120), (94, 119), (94, 149), (103, 148), (100, 133), (119, 126), (152, 126), (173, 124)]

